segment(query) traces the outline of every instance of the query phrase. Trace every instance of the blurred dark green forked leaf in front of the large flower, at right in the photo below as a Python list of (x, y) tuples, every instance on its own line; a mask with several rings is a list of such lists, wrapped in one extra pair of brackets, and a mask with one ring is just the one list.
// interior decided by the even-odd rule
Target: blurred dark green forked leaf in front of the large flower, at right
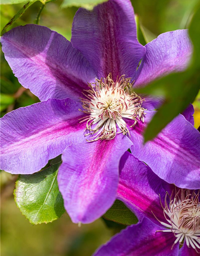
[(155, 80), (145, 88), (136, 90), (139, 94), (164, 96), (164, 104), (152, 118), (144, 132), (144, 141), (152, 140), (156, 135), (182, 113), (192, 103), (200, 89), (200, 5), (190, 27), (189, 34), (194, 46), (191, 65), (184, 72), (173, 73)]

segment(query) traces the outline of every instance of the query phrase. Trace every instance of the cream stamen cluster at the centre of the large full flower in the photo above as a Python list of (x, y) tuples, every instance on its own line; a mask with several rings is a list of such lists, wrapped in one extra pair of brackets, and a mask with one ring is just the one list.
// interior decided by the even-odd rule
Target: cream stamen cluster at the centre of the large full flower
[(109, 74), (88, 86), (90, 89), (84, 90), (85, 97), (81, 98), (84, 110), (80, 110), (87, 114), (80, 121), (87, 121), (86, 129), (90, 132), (85, 136), (92, 135), (87, 141), (112, 140), (121, 132), (130, 136), (124, 118), (133, 120), (130, 128), (139, 120), (144, 122), (144, 99), (133, 91), (131, 78), (123, 75), (114, 82)]

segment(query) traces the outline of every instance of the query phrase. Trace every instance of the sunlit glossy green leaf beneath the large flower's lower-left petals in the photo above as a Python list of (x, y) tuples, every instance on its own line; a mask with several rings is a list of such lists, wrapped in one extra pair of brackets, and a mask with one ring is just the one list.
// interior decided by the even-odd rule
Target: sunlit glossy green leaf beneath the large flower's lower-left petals
[(58, 190), (57, 174), (61, 162), (42, 172), (19, 175), (14, 190), (16, 205), (32, 224), (52, 222), (64, 213), (62, 195)]

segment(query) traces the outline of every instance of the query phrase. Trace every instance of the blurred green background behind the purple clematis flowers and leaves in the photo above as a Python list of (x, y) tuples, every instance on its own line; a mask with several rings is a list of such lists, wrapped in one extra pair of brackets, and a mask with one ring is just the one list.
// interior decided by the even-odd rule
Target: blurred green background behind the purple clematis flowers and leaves
[[(132, 0), (148, 41), (170, 30), (187, 28), (198, 0)], [(61, 0), (46, 4), (40, 25), (56, 30), (68, 40), (77, 8), (60, 8)], [(1, 30), (23, 4), (0, 6)], [(14, 26), (34, 23), (41, 3), (34, 3)], [(9, 28), (9, 29), (10, 29)], [(16, 108), (38, 102), (28, 89), (14, 77), (2, 52), (0, 53), (0, 116)], [(200, 126), (200, 94), (194, 102), (195, 127)], [(49, 224), (32, 226), (16, 207), (13, 188), (17, 176), (0, 172), (0, 240), (1, 256), (90, 256), (100, 244), (117, 230), (108, 228), (100, 219), (80, 228), (65, 213)]]

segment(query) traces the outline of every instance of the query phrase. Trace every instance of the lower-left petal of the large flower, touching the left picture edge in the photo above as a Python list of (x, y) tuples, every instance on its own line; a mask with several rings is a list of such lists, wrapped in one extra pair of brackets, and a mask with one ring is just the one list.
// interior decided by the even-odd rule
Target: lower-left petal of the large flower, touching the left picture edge
[(64, 151), (73, 140), (84, 140), (80, 104), (49, 99), (18, 108), (0, 119), (0, 168), (13, 174), (32, 174)]

